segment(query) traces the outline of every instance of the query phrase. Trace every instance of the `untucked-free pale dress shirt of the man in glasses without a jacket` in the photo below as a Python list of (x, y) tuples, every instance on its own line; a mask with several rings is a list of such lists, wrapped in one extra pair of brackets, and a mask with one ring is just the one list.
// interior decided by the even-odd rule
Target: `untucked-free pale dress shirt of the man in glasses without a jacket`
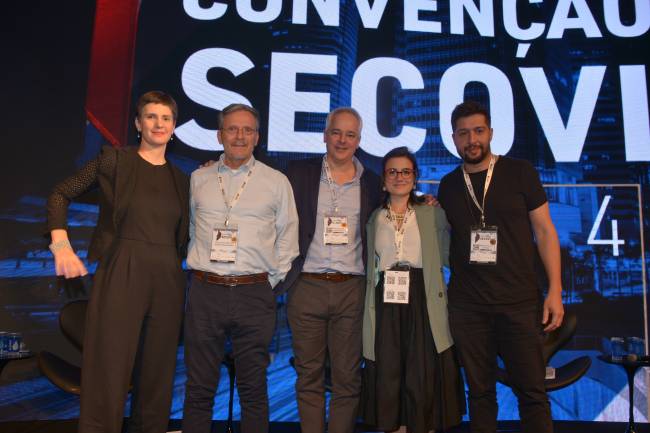
[[(298, 214), (291, 184), (284, 174), (254, 157), (235, 170), (226, 166), (223, 159), (221, 155), (219, 163), (192, 173), (187, 264), (192, 269), (219, 275), (268, 272), (269, 282), (275, 287), (298, 256)], [(253, 173), (230, 212), (230, 225), (237, 224), (239, 230), (236, 260), (212, 261), (212, 232), (224, 224), (227, 212), (217, 171), (222, 176), (226, 197), (232, 202), (251, 166)]]

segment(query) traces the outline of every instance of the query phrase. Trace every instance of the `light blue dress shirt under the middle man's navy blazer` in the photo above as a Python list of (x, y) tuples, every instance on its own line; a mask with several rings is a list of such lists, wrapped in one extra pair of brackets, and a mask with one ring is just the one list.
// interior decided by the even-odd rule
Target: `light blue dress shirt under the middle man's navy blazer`
[(305, 264), (302, 267), (304, 272), (341, 272), (344, 274), (364, 275), (363, 248), (361, 247), (361, 230), (359, 226), (361, 218), (361, 175), (363, 166), (354, 157), (353, 160), (356, 173), (354, 178), (338, 185), (332, 183), (338, 197), (338, 215), (348, 217), (348, 243), (344, 245), (325, 245), (323, 240), (323, 219), (325, 216), (334, 215), (334, 204), (330, 185), (327, 181), (325, 168), (321, 169), (320, 185), (318, 188), (318, 207), (316, 210), (316, 230), (314, 239), (307, 250)]

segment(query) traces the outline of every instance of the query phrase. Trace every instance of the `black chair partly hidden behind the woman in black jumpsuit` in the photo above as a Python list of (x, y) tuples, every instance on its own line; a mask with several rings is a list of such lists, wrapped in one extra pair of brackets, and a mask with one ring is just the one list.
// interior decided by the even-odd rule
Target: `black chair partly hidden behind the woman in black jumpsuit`
[[(79, 351), (83, 347), (88, 301), (72, 301), (59, 312), (59, 327), (66, 339)], [(81, 393), (81, 368), (57, 355), (42, 351), (38, 354), (38, 367), (54, 385), (70, 394)]]

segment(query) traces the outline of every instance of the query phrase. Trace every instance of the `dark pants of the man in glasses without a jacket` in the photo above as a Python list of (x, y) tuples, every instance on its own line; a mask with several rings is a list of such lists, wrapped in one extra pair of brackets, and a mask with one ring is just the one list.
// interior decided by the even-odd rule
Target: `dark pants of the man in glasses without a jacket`
[(266, 368), (275, 327), (269, 283), (223, 286), (192, 278), (185, 312), (183, 431), (208, 433), (226, 338), (232, 342), (242, 433), (267, 433)]

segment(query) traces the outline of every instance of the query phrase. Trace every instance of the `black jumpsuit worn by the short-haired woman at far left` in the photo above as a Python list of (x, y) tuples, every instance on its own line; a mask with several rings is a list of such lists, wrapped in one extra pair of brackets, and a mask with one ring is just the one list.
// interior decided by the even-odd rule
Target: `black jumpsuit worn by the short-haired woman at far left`
[(169, 419), (185, 288), (175, 239), (182, 210), (169, 163), (138, 156), (133, 181), (88, 306), (82, 433), (121, 431), (131, 382), (131, 432), (165, 432)]

